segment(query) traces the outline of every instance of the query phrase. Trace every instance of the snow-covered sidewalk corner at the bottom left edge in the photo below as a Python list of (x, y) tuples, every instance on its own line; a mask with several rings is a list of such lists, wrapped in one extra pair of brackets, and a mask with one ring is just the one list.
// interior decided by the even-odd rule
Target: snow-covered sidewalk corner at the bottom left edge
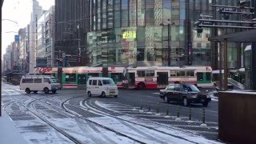
[(0, 117), (0, 143), (2, 144), (27, 144), (22, 134), (14, 126), (5, 110), (2, 110)]

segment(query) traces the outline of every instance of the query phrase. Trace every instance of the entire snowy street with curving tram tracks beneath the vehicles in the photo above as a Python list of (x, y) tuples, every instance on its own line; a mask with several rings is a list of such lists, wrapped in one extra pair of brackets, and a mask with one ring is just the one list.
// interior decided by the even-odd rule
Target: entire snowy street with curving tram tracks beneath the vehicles
[(2, 108), (28, 143), (219, 142), (218, 98), (208, 107), (192, 105), (189, 121), (190, 107), (164, 103), (158, 91), (119, 90), (118, 98), (87, 98), (82, 89), (26, 94), (2, 83)]

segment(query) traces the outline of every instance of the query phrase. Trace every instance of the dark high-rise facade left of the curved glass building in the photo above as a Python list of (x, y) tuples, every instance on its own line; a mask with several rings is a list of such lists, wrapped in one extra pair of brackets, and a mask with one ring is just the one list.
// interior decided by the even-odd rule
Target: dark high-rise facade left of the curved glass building
[(70, 66), (86, 65), (89, 8), (88, 0), (55, 0), (54, 58), (70, 59)]

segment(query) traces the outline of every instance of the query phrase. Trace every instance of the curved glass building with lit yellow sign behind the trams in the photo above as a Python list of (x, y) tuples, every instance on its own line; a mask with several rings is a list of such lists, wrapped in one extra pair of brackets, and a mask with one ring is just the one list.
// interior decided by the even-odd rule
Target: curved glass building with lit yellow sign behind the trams
[[(200, 14), (222, 19), (212, 4), (237, 6), (233, 0), (90, 0), (86, 60), (89, 66), (168, 66), (170, 61), (170, 66), (216, 70), (219, 46), (208, 38), (241, 29), (203, 28), (198, 34), (194, 22)], [(232, 14), (229, 20), (242, 17)], [(228, 51), (229, 68), (241, 67), (240, 44), (230, 43)]]

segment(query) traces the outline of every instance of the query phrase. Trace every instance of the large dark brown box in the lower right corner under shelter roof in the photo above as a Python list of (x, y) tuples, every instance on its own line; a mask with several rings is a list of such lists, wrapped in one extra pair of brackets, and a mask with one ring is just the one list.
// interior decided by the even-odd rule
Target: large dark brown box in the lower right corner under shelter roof
[(256, 143), (256, 91), (218, 92), (218, 136), (228, 143)]

